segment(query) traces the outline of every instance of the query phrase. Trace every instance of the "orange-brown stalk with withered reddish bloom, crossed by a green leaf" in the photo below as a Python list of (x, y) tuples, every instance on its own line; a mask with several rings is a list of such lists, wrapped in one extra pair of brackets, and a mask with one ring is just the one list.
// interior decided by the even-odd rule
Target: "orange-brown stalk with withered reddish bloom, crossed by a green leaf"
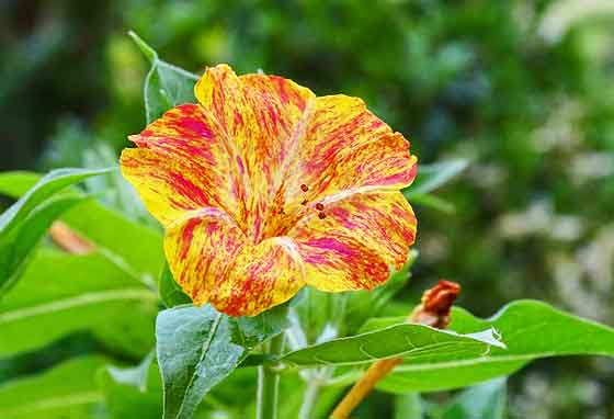
[[(461, 286), (454, 282), (440, 281), (424, 292), (422, 301), (408, 317), (408, 322), (427, 325), (445, 329), (450, 325), (452, 305), (461, 293)], [(395, 366), (402, 362), (401, 358), (390, 358), (373, 363), (364, 375), (348, 392), (345, 397), (332, 411), (332, 419), (348, 419), (350, 414), (371, 393), (373, 387)]]

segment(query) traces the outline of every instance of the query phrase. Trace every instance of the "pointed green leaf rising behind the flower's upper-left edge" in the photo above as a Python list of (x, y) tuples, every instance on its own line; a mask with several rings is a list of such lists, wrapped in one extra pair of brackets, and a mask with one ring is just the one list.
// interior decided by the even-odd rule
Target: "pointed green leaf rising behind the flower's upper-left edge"
[(135, 32), (128, 32), (143, 54), (151, 63), (144, 87), (147, 123), (160, 117), (170, 107), (194, 103), (194, 83), (198, 76), (161, 60), (158, 53)]

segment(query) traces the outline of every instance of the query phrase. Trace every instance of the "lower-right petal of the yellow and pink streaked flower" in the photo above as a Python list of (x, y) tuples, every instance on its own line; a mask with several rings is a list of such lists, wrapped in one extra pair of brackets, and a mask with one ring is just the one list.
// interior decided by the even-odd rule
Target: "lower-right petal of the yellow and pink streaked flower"
[(288, 234), (305, 263), (305, 281), (322, 291), (373, 288), (400, 269), (417, 222), (400, 192), (341, 193), (322, 201)]

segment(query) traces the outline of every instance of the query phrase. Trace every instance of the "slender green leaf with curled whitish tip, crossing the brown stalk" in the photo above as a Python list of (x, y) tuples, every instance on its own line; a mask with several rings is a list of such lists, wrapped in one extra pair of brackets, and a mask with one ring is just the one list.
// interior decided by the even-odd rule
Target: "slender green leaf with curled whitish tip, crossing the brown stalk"
[(299, 349), (286, 353), (281, 361), (300, 366), (355, 365), (403, 356), (412, 363), (434, 363), (478, 358), (493, 346), (504, 347), (492, 329), (458, 335), (423, 325), (401, 324)]

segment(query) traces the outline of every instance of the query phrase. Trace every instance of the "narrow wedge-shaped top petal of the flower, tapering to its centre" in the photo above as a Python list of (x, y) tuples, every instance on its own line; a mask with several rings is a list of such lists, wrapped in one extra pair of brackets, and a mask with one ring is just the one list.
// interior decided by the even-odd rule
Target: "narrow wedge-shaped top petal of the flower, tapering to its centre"
[(315, 95), (282, 77), (237, 77), (226, 65), (208, 68), (194, 93), (229, 138), (231, 160), (247, 191), (247, 230), (259, 241), (283, 166), (295, 152), (297, 127)]

